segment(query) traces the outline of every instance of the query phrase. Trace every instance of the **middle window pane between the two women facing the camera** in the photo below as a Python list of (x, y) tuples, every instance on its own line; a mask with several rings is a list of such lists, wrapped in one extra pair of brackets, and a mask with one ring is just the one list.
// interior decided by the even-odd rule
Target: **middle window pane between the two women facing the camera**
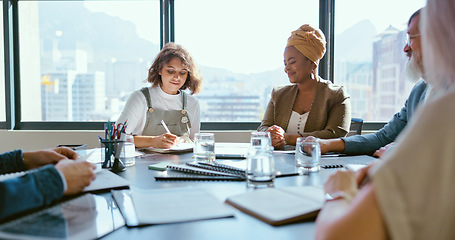
[(287, 38), (303, 24), (318, 27), (318, 19), (313, 0), (175, 0), (175, 42), (204, 77), (201, 121), (261, 121), (272, 88), (289, 84)]

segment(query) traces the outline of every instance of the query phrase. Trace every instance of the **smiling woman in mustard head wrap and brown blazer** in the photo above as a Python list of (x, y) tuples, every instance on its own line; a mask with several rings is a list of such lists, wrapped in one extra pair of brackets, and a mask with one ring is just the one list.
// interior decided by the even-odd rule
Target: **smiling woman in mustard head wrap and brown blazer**
[(271, 133), (275, 148), (298, 137), (339, 138), (349, 132), (351, 102), (344, 87), (318, 75), (325, 54), (324, 33), (305, 24), (292, 32), (284, 50), (284, 71), (292, 85), (276, 87), (258, 131)]

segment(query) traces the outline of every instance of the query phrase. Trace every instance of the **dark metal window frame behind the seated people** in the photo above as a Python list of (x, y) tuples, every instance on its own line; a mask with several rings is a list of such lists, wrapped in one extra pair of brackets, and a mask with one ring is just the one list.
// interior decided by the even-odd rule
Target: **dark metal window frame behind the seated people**
[[(8, 130), (100, 130), (104, 122), (27, 122), (21, 119), (21, 91), (19, 65), (18, 2), (3, 1), (5, 104), (6, 122), (0, 128)], [(333, 79), (334, 68), (335, 0), (319, 0), (319, 28), (327, 37), (327, 52), (319, 67), (324, 79)], [(174, 41), (174, 0), (160, 0), (160, 47)], [(259, 122), (202, 122), (201, 130), (255, 130)], [(377, 130), (382, 122), (368, 122), (364, 130)]]

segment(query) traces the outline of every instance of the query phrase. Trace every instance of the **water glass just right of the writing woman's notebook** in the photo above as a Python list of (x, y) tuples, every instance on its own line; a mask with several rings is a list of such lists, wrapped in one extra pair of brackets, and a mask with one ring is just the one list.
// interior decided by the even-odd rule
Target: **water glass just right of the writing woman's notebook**
[(215, 134), (196, 133), (193, 152), (196, 161), (211, 162), (215, 160)]

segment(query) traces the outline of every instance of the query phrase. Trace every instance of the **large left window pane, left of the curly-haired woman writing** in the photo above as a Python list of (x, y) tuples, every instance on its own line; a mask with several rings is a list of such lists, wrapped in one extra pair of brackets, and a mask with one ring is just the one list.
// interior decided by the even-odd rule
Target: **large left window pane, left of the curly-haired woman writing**
[(117, 119), (159, 51), (159, 1), (19, 1), (18, 8), (22, 120)]

